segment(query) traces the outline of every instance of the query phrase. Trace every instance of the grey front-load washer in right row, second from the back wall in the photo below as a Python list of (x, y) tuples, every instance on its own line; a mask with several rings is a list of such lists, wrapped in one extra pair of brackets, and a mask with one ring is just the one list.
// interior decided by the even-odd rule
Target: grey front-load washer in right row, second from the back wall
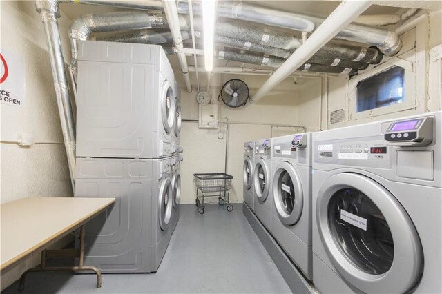
[(253, 166), (253, 210), (260, 222), (270, 230), (271, 222), (271, 139), (255, 141)]

